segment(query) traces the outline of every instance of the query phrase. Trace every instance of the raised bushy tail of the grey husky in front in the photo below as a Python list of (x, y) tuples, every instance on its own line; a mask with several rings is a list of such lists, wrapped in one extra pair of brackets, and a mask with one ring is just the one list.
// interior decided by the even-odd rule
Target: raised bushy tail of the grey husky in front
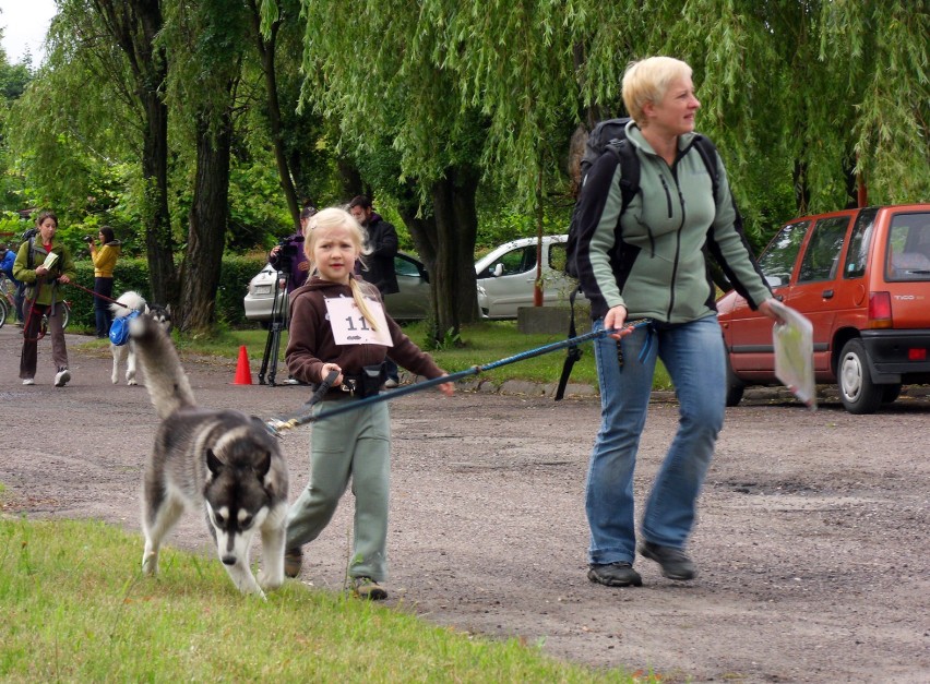
[(135, 353), (145, 371), (145, 386), (162, 419), (180, 408), (194, 406), (193, 392), (178, 350), (165, 329), (151, 315), (142, 314), (129, 324)]

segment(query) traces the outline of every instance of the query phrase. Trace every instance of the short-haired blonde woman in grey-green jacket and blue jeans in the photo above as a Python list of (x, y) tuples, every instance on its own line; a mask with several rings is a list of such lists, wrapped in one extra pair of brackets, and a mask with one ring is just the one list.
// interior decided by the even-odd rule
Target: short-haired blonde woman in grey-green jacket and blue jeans
[[(617, 331), (595, 343), (601, 423), (585, 502), (587, 576), (613, 587), (643, 583), (633, 569), (633, 469), (657, 358), (675, 384), (680, 419), (646, 501), (639, 552), (657, 562), (669, 579), (696, 574), (684, 545), (726, 403), (724, 341), (706, 254), (725, 267), (753, 310), (777, 319), (723, 161), (715, 152), (715, 195), (695, 148), (694, 115), (701, 104), (691, 68), (669, 57), (635, 62), (627, 68), (622, 91), (633, 119), (627, 144), (640, 164), (640, 190), (623, 211), (619, 156), (601, 154), (582, 188), (576, 253), (594, 329)], [(630, 319), (651, 319), (652, 324), (619, 332)]]

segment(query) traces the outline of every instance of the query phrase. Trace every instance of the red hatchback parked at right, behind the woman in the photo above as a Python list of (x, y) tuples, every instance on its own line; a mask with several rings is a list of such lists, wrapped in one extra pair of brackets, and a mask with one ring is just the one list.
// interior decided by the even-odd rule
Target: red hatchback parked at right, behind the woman
[[(759, 259), (775, 297), (813, 324), (814, 376), (837, 383), (851, 413), (930, 383), (930, 204), (804, 216)], [(727, 406), (746, 385), (777, 384), (772, 321), (734, 291), (717, 301), (728, 359)]]

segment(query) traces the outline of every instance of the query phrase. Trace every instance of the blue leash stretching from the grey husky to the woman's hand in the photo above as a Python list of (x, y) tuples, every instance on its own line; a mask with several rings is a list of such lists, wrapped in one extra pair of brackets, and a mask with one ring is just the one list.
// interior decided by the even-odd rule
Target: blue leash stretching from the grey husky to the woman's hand
[[(631, 323), (628, 323), (623, 326), (622, 329), (635, 329), (637, 327), (649, 325), (651, 323), (652, 321), (649, 319), (640, 319), (637, 321), (632, 321)], [(326, 380), (321, 383), (320, 387), (313, 393), (313, 396), (310, 398), (309, 401), (307, 401), (307, 404), (303, 405), (300, 411), (297, 411), (296, 413), (293, 413), (289, 417), (285, 418), (273, 418), (272, 420), (269, 420), (265, 424), (267, 429), (272, 432), (272, 434), (278, 435), (282, 430), (289, 430), (291, 428), (306, 425), (310, 422), (317, 422), (319, 420), (332, 418), (333, 416), (346, 413), (348, 411), (356, 411), (358, 409), (371, 406), (373, 404), (378, 404), (380, 401), (396, 399), (404, 395), (413, 394), (414, 392), (420, 392), (421, 389), (428, 389), (429, 387), (434, 387), (436, 385), (455, 382), (457, 380), (462, 380), (463, 377), (468, 377), (469, 375), (477, 375), (478, 373), (481, 373), (484, 371), (491, 371), (502, 365), (508, 365), (510, 363), (516, 363), (517, 361), (532, 359), (533, 357), (542, 356), (544, 353), (558, 351), (559, 349), (565, 349), (567, 347), (575, 347), (582, 343), (586, 343), (592, 339), (606, 337), (607, 335), (610, 335), (615, 332), (616, 331), (613, 328), (592, 331), (591, 333), (586, 333), (585, 335), (579, 335), (577, 337), (571, 337), (569, 339), (563, 339), (562, 341), (552, 343), (550, 345), (544, 345), (535, 349), (528, 349), (527, 351), (521, 351), (520, 353), (515, 353), (512, 357), (506, 357), (498, 361), (491, 361), (490, 363), (484, 363), (481, 365), (473, 365), (472, 368), (467, 368), (464, 371), (450, 373), (449, 375), (443, 375), (442, 377), (433, 377), (432, 380), (425, 380), (413, 385), (397, 387), (396, 389), (392, 389), (391, 392), (375, 394), (373, 396), (366, 397), (365, 399), (358, 399), (357, 401), (347, 401), (330, 410), (321, 411), (317, 416), (312, 416), (311, 412), (307, 409), (317, 404), (320, 399), (322, 399), (323, 395), (325, 395), (326, 392), (330, 389), (330, 387), (332, 386), (332, 382), (338, 376), (338, 374), (333, 371), (333, 373), (330, 373)], [(643, 351), (646, 350), (647, 347), (644, 348)]]

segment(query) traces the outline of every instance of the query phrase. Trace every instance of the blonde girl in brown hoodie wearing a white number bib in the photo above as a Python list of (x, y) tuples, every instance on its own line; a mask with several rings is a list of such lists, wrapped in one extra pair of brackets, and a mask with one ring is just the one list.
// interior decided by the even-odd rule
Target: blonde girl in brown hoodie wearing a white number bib
[[(331, 371), (339, 373), (314, 409), (318, 413), (330, 401), (358, 401), (377, 394), (386, 379), (389, 353), (418, 375), (446, 374), (384, 313), (378, 289), (354, 275), (356, 261), (365, 253), (363, 242), (361, 226), (339, 208), (323, 209), (307, 226), (303, 251), (311, 277), (291, 295), (285, 360), (290, 374), (306, 383), (320, 383)], [(453, 393), (452, 383), (439, 388), (446, 396)], [(351, 478), (356, 500), (351, 588), (361, 598), (388, 597), (378, 583), (388, 576), (390, 466), (386, 401), (313, 424), (310, 483), (288, 515), (285, 573), (289, 577), (300, 573), (300, 547), (317, 539), (330, 523)]]

